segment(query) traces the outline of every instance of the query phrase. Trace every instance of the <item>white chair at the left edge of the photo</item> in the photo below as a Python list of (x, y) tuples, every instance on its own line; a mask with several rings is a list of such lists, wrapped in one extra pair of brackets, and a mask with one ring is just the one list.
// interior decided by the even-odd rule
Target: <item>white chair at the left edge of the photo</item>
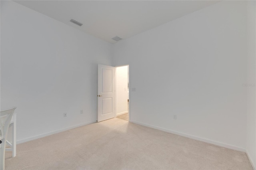
[(7, 138), (7, 134), (8, 134), (8, 129), (10, 127), (12, 115), (13, 115), (15, 109), (16, 109), (16, 107), (13, 107), (11, 109), (0, 112), (1, 113), (0, 114), (0, 116), (1, 116), (0, 136), (1, 136), (1, 141), (2, 141), (1, 154), (0, 154), (0, 158), (1, 158), (0, 170), (4, 170), (6, 138)]

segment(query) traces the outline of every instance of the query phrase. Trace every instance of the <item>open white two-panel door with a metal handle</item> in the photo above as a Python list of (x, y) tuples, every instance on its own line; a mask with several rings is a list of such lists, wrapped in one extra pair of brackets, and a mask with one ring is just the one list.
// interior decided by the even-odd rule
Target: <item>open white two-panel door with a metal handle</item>
[(98, 122), (115, 117), (115, 67), (98, 64)]

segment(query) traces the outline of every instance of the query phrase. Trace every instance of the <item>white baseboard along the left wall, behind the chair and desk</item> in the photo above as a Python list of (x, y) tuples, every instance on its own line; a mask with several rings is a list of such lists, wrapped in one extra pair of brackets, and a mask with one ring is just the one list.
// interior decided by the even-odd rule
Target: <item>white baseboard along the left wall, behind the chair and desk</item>
[(77, 127), (81, 127), (81, 126), (84, 126), (84, 125), (89, 125), (89, 124), (91, 124), (91, 123), (96, 123), (96, 121), (87, 122), (87, 123), (82, 123), (82, 124), (80, 124), (80, 125), (75, 125), (75, 126), (63, 128), (63, 129), (60, 129), (60, 130), (55, 130), (55, 131), (52, 131), (52, 132), (48, 132), (48, 133), (44, 133), (44, 134), (39, 134), (39, 135), (30, 137), (30, 138), (25, 138), (25, 139), (22, 139), (22, 140), (18, 140), (18, 141), (17, 141), (17, 144), (24, 143), (24, 142), (28, 142), (28, 141), (30, 141), (30, 140), (35, 140), (35, 139), (38, 139), (38, 138), (42, 138), (42, 137), (45, 137), (45, 136), (49, 136), (49, 135), (51, 135), (51, 134), (56, 134), (56, 133), (59, 133), (59, 132), (63, 132), (63, 131), (66, 131), (66, 130), (70, 130), (70, 129), (72, 129), (72, 128), (77, 128)]

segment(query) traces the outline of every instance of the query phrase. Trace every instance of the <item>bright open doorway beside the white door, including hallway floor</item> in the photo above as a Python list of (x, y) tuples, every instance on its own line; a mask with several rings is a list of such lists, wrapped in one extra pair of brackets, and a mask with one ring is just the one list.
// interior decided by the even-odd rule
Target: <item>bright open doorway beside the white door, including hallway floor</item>
[(129, 121), (129, 65), (116, 67), (116, 118)]

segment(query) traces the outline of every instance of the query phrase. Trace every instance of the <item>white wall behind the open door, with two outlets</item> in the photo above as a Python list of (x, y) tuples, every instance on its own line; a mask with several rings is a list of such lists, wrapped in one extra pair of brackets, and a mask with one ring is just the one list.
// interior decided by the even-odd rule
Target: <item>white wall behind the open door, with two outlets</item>
[(110, 52), (110, 43), (1, 1), (1, 109), (17, 106), (17, 140), (96, 122), (97, 64), (111, 65)]

